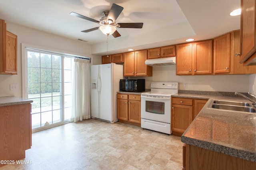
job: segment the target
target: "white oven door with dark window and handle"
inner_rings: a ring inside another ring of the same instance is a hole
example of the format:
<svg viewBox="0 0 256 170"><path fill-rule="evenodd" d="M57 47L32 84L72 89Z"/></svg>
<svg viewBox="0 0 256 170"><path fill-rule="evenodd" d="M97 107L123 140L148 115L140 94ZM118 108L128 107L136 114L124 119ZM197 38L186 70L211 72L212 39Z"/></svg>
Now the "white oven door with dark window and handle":
<svg viewBox="0 0 256 170"><path fill-rule="evenodd" d="M142 95L141 118L171 123L171 97Z"/></svg>

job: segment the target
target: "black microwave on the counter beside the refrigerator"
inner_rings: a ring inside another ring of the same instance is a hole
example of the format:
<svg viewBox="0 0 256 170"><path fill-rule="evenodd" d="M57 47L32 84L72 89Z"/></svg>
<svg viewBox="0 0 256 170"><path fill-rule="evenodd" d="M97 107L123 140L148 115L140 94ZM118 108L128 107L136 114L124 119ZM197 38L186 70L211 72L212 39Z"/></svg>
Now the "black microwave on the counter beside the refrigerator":
<svg viewBox="0 0 256 170"><path fill-rule="evenodd" d="M120 79L119 88L122 92L143 92L145 79Z"/></svg>

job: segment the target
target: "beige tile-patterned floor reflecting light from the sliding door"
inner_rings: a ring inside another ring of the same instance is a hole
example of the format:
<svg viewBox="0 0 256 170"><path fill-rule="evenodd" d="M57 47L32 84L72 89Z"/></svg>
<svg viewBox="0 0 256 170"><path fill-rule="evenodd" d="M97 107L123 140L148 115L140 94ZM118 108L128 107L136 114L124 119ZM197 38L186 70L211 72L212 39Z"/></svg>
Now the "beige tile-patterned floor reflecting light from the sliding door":
<svg viewBox="0 0 256 170"><path fill-rule="evenodd" d="M180 137L88 119L32 134L24 162L0 170L181 170Z"/></svg>

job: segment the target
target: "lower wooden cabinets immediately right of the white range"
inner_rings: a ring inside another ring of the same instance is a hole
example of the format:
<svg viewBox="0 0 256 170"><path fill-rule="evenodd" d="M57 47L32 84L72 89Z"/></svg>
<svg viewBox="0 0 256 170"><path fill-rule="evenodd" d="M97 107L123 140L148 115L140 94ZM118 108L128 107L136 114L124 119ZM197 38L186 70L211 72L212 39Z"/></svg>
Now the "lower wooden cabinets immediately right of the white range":
<svg viewBox="0 0 256 170"><path fill-rule="evenodd" d="M172 97L172 134L181 136L207 100Z"/></svg>

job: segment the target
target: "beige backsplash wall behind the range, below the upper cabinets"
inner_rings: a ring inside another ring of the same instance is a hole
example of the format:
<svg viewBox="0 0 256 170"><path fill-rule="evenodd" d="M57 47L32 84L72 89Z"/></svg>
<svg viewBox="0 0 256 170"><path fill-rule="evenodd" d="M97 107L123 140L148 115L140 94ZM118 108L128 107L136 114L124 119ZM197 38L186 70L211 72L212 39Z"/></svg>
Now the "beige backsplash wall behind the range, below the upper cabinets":
<svg viewBox="0 0 256 170"><path fill-rule="evenodd" d="M254 75L252 77L255 77L256 74L252 75ZM146 88L150 88L151 82L179 82L180 90L249 92L249 76L250 75L246 74L176 76L176 65L172 65L153 67L153 76L144 78L146 79ZM256 81L255 79L256 78L254 78L254 81ZM184 88L183 83L187 83L188 88Z"/></svg>

